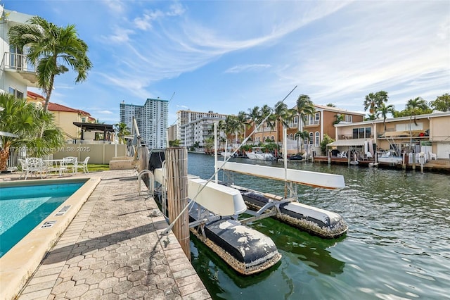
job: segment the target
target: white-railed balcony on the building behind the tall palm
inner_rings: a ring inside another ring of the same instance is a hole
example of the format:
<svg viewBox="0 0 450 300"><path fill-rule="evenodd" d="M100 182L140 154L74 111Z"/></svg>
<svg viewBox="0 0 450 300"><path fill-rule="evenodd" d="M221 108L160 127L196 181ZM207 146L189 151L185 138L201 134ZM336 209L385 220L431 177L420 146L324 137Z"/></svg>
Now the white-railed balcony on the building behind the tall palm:
<svg viewBox="0 0 450 300"><path fill-rule="evenodd" d="M25 81L28 87L37 87L36 70L25 54L5 52L0 68L15 80Z"/></svg>

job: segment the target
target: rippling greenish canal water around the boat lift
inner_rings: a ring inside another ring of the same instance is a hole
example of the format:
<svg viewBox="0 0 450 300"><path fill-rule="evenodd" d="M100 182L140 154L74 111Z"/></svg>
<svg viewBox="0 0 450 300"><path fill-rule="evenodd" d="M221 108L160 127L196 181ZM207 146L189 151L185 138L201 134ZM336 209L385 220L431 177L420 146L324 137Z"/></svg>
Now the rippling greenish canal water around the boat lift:
<svg viewBox="0 0 450 300"><path fill-rule="evenodd" d="M283 168L283 162L232 161ZM208 179L213 165L213 156L188 154L189 174ZM342 215L349 232L328 240L270 218L252 223L283 258L251 276L239 275L191 236L193 266L213 299L450 299L449 175L304 162L288 168L344 176L343 189L299 185L298 194L304 204ZM233 179L283 195L284 182Z"/></svg>

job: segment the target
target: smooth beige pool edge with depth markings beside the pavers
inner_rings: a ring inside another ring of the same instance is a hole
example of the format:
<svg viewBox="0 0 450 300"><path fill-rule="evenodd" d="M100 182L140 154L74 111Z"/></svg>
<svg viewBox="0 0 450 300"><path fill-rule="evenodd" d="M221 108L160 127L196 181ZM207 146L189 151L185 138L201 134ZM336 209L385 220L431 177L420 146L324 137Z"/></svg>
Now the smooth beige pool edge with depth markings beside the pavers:
<svg viewBox="0 0 450 300"><path fill-rule="evenodd" d="M60 235L101 182L100 176L77 177L77 180L82 178L86 179L82 187L0 258L0 299L15 299L47 251L58 241ZM58 180L58 182L61 181ZM55 215L61 208L68 205L70 208L63 215ZM51 227L40 228L43 223L49 221L56 221L56 223Z"/></svg>

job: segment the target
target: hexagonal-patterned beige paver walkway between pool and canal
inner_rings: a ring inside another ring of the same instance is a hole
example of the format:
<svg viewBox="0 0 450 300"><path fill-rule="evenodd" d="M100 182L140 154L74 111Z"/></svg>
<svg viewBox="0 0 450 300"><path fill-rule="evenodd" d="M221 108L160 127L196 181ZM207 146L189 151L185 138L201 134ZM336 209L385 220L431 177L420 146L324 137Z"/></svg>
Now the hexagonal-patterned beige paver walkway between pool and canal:
<svg viewBox="0 0 450 300"><path fill-rule="evenodd" d="M101 182L17 299L211 299L174 234L161 235L167 223L138 194L137 173L95 174Z"/></svg>

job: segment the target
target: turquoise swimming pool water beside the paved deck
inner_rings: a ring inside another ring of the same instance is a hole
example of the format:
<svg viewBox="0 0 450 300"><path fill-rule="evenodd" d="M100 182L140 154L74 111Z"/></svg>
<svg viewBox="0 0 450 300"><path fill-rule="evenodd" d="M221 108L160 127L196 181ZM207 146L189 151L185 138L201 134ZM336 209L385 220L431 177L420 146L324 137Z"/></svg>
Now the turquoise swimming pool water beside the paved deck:
<svg viewBox="0 0 450 300"><path fill-rule="evenodd" d="M0 189L0 257L49 216L84 182Z"/></svg>

